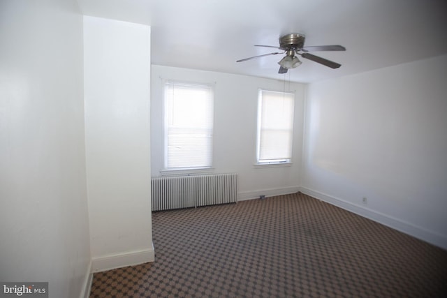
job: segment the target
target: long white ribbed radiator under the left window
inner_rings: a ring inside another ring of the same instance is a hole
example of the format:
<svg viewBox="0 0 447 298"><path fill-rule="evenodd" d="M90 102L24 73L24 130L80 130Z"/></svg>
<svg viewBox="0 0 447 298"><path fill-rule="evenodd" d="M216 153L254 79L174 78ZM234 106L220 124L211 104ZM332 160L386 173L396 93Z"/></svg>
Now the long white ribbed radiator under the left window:
<svg viewBox="0 0 447 298"><path fill-rule="evenodd" d="M237 202L237 174L152 177L152 211Z"/></svg>

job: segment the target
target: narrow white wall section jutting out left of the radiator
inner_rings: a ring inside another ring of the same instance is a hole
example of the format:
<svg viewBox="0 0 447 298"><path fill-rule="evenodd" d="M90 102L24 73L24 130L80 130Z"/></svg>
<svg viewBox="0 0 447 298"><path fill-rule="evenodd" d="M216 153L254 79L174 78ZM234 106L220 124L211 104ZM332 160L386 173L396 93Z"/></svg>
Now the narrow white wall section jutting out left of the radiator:
<svg viewBox="0 0 447 298"><path fill-rule="evenodd" d="M93 270L149 262L150 27L85 16L84 50Z"/></svg>

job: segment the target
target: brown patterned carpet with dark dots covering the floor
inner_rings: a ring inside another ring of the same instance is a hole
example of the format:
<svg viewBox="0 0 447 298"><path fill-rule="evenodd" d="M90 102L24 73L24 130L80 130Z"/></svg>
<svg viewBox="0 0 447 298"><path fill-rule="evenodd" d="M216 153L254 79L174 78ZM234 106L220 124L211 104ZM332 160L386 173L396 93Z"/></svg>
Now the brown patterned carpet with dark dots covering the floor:
<svg viewBox="0 0 447 298"><path fill-rule="evenodd" d="M90 297L447 297L447 251L302 193L152 213L155 262Z"/></svg>

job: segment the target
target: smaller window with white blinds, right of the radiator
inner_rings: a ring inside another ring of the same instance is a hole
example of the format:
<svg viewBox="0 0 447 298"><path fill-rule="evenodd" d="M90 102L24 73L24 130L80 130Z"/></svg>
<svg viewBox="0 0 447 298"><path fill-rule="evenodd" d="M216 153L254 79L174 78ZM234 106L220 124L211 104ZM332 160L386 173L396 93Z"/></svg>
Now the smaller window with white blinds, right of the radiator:
<svg viewBox="0 0 447 298"><path fill-rule="evenodd" d="M259 90L257 163L291 162L294 103L293 93Z"/></svg>

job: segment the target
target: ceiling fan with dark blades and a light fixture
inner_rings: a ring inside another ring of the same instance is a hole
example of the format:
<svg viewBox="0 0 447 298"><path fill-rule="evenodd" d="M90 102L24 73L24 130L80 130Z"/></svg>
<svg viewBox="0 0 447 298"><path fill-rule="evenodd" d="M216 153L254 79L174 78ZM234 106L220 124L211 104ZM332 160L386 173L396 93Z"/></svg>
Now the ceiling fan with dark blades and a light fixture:
<svg viewBox="0 0 447 298"><path fill-rule="evenodd" d="M286 54L286 56L278 62L279 71L278 73L287 73L287 70L295 68L301 64L300 59L295 56L295 54L300 55L302 58L312 60L316 63L323 64L330 68L339 68L342 64L324 59L309 52L318 51L346 51L346 48L342 45L314 45L310 47L305 47L305 36L299 33L291 33L281 36L279 38L279 47L274 45L255 45L255 47L274 47L284 52L272 52L268 54L262 54L254 57L249 57L245 59L237 60L236 62L247 61L250 59L255 59L259 57L265 57L276 54Z"/></svg>

